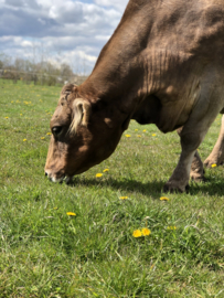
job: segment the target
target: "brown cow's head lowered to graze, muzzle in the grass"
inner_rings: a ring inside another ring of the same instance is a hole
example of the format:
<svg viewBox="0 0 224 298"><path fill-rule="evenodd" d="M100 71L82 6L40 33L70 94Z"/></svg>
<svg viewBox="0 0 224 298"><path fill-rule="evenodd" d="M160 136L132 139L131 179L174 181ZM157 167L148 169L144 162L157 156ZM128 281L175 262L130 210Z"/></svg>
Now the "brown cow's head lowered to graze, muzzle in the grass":
<svg viewBox="0 0 224 298"><path fill-rule="evenodd" d="M45 174L60 182L102 162L114 152L129 120L116 105L84 98L76 86L66 85L51 119Z"/></svg>

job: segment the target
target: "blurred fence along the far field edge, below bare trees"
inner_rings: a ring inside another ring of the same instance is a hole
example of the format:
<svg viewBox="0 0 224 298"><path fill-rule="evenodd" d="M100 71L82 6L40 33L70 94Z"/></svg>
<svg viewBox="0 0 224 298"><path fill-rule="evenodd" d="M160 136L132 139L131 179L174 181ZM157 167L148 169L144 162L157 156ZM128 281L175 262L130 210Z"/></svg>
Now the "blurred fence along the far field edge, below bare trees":
<svg viewBox="0 0 224 298"><path fill-rule="evenodd" d="M81 85L87 76L68 74L58 75L45 72L24 72L17 70L0 70L0 78L11 79L14 84L22 81L25 84L63 86L67 83Z"/></svg>

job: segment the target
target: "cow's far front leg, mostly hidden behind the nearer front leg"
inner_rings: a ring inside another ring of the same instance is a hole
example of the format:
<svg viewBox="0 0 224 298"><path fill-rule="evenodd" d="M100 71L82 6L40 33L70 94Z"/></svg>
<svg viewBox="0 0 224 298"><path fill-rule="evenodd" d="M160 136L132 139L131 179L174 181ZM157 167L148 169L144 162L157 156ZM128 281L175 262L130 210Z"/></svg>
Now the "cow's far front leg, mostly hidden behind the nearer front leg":
<svg viewBox="0 0 224 298"><path fill-rule="evenodd" d="M180 136L183 127L177 129L178 135ZM200 158L199 151L196 150L193 157L193 161L191 163L191 172L190 178L195 182L202 182L205 180L204 178L204 167L203 162Z"/></svg>

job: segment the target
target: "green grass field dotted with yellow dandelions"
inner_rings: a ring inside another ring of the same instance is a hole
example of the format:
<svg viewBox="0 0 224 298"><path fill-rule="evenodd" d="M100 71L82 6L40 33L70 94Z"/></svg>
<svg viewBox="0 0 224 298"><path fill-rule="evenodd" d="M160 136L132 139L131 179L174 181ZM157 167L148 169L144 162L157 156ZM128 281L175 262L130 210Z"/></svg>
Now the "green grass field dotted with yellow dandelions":
<svg viewBox="0 0 224 298"><path fill-rule="evenodd" d="M131 121L108 160L53 184L44 164L58 95L0 81L0 297L224 297L223 167L160 201L179 137ZM150 235L132 236L145 227Z"/></svg>

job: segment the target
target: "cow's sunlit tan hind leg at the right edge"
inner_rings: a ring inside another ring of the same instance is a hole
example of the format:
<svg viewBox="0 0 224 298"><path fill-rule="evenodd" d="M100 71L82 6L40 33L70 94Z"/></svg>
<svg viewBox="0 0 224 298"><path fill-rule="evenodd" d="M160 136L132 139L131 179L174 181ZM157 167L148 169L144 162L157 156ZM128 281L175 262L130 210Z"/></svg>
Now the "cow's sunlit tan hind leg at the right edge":
<svg viewBox="0 0 224 298"><path fill-rule="evenodd" d="M204 161L204 164L207 168L211 168L212 164L222 164L224 162L224 115L222 117L221 131L218 139L215 143L210 156Z"/></svg>

